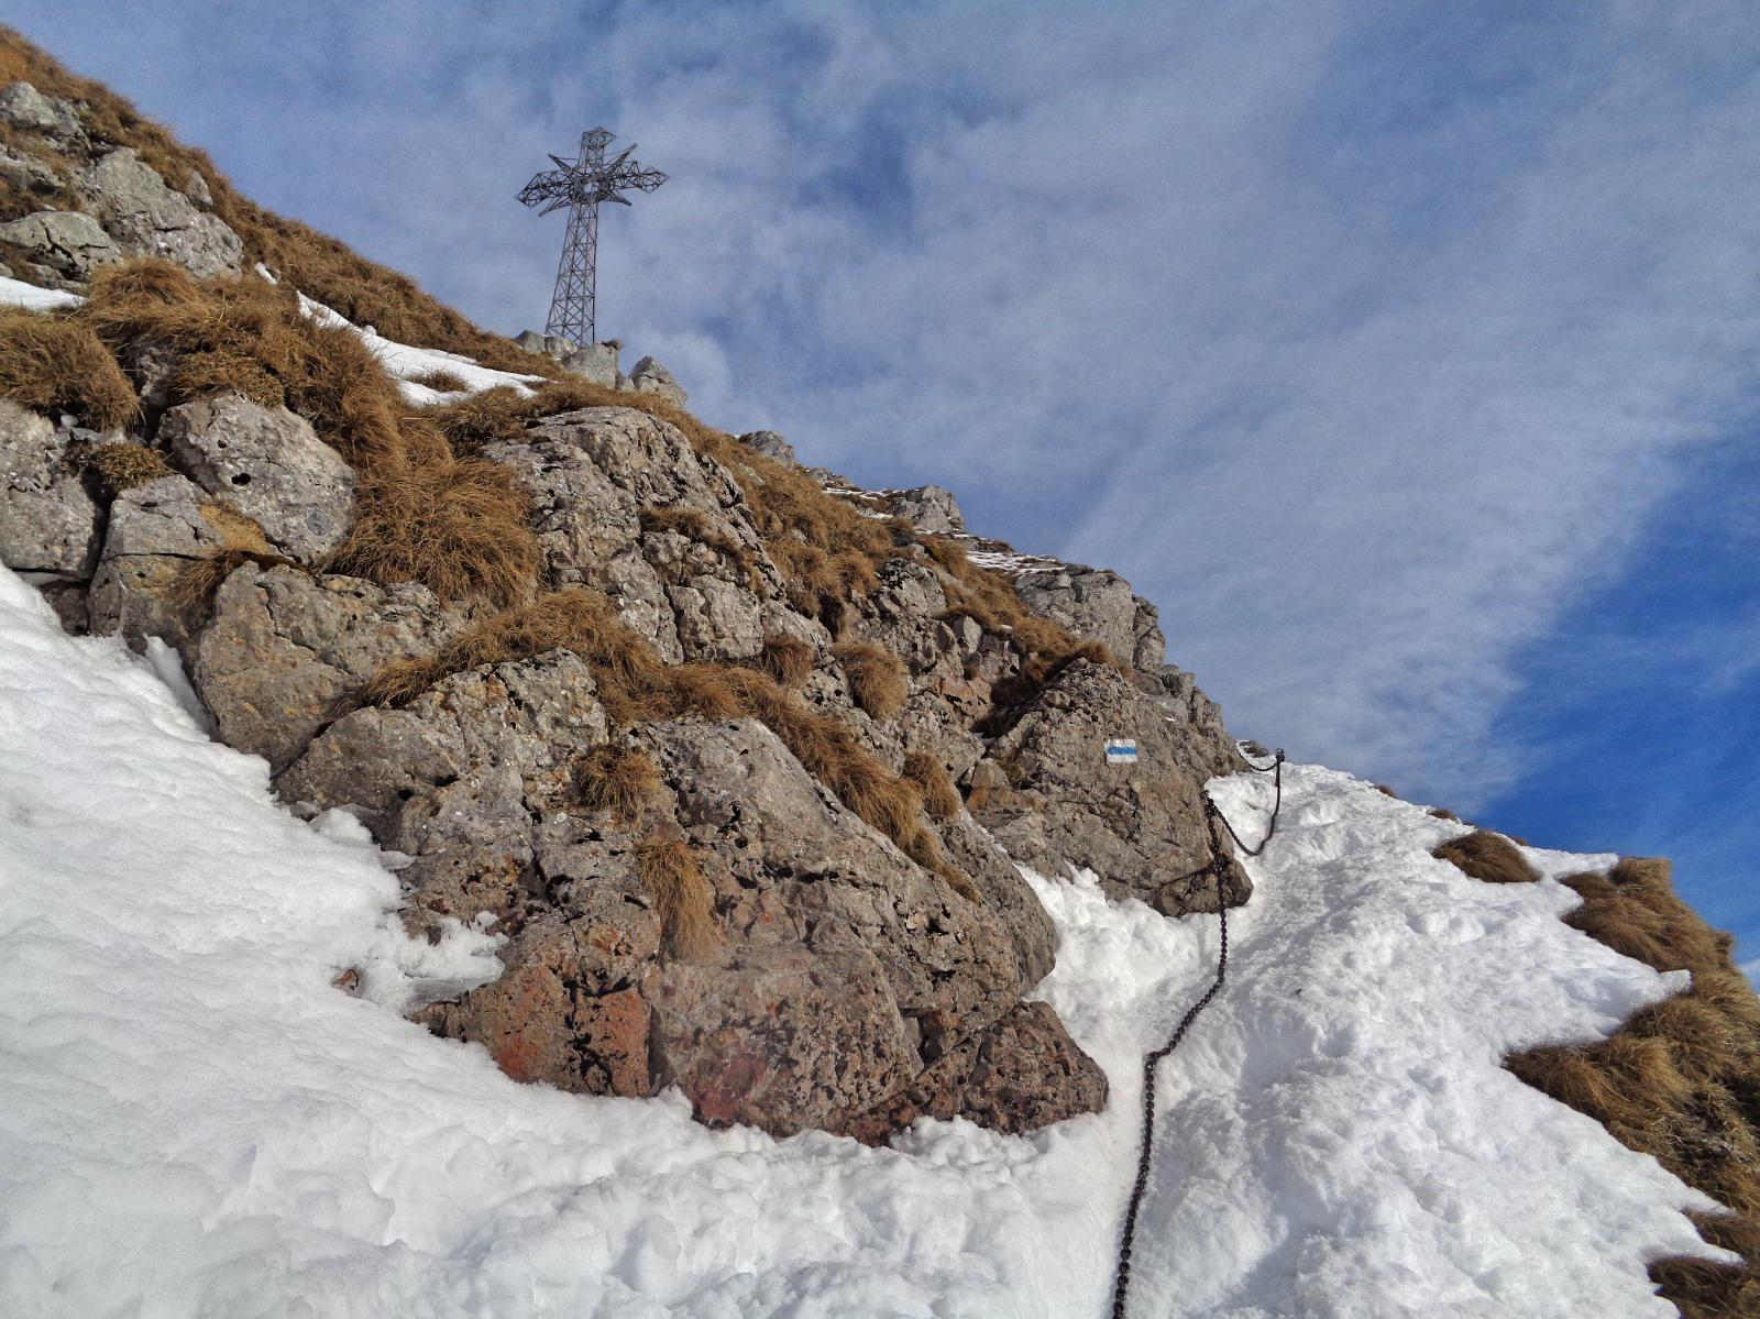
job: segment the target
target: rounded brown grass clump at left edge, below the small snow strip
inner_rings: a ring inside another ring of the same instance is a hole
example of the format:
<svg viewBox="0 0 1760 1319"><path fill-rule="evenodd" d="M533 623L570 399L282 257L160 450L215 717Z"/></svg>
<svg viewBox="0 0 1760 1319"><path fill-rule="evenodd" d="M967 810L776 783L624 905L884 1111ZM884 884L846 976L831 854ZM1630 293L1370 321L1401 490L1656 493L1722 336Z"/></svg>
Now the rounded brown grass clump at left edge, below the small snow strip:
<svg viewBox="0 0 1760 1319"><path fill-rule="evenodd" d="M92 329L63 315L0 308L0 398L46 414L70 412L95 430L141 410L134 386Z"/></svg>

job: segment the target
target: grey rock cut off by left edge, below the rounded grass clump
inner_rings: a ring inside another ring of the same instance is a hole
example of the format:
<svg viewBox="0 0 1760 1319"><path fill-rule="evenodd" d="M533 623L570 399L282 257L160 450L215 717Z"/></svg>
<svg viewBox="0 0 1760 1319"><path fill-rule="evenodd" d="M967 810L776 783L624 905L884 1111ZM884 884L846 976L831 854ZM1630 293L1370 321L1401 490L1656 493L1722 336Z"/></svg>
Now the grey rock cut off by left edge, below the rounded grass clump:
<svg viewBox="0 0 1760 1319"><path fill-rule="evenodd" d="M99 507L67 437L48 417L0 400L0 562L83 581L97 558Z"/></svg>

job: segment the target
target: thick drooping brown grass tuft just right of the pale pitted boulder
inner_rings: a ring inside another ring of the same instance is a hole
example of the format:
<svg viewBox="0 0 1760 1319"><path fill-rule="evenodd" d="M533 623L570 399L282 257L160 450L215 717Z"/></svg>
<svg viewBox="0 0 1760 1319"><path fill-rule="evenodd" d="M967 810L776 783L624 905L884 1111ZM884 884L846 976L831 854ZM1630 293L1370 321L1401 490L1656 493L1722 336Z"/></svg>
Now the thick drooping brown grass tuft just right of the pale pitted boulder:
<svg viewBox="0 0 1760 1319"><path fill-rule="evenodd" d="M356 519L329 564L382 585L419 581L447 601L510 604L537 574L537 537L512 475L475 458L391 461L356 490Z"/></svg>

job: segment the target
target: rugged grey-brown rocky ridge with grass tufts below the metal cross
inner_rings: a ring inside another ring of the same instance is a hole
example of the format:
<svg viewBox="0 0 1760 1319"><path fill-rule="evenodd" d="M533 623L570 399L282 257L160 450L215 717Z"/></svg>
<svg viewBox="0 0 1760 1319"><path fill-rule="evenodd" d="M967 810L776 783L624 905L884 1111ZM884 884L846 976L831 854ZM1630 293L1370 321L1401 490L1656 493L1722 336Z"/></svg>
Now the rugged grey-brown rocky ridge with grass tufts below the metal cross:
<svg viewBox="0 0 1760 1319"><path fill-rule="evenodd" d="M55 174L88 210L53 215L77 220L0 234L18 273L95 303L125 257L238 276L201 188L95 139L81 106L14 83L0 114L95 160ZM70 227L72 248L28 247ZM361 500L415 458L303 416L278 359L268 394L262 370L167 393L187 343L128 328L114 352L157 398L123 426L0 402L0 558L70 630L176 648L292 808L348 808L410 858L412 928L505 937L505 974L422 1006L429 1028L519 1080L678 1085L704 1122L773 1132L1021 1131L1104 1102L1024 1000L1054 947L1014 863L1213 907L1199 789L1237 768L1128 583L979 541L933 486L866 491L774 433L716 437L651 359L618 391L614 354L595 403L408 423L458 449L433 470L517 497L516 599L341 572L364 562ZM1112 736L1139 766L1105 764ZM1232 872L1221 898L1246 893Z"/></svg>

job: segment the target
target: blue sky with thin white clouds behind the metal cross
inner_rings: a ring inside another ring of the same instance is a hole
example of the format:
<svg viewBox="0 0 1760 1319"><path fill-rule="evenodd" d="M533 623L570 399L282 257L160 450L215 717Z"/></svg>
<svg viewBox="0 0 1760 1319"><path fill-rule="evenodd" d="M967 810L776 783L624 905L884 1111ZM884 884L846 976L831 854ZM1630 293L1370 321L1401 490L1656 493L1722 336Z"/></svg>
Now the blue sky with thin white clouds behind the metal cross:
<svg viewBox="0 0 1760 1319"><path fill-rule="evenodd" d="M1230 727L1668 854L1760 956L1748 4L197 5L0 18L257 201L704 419L1125 572ZM616 148L614 148L616 150Z"/></svg>

